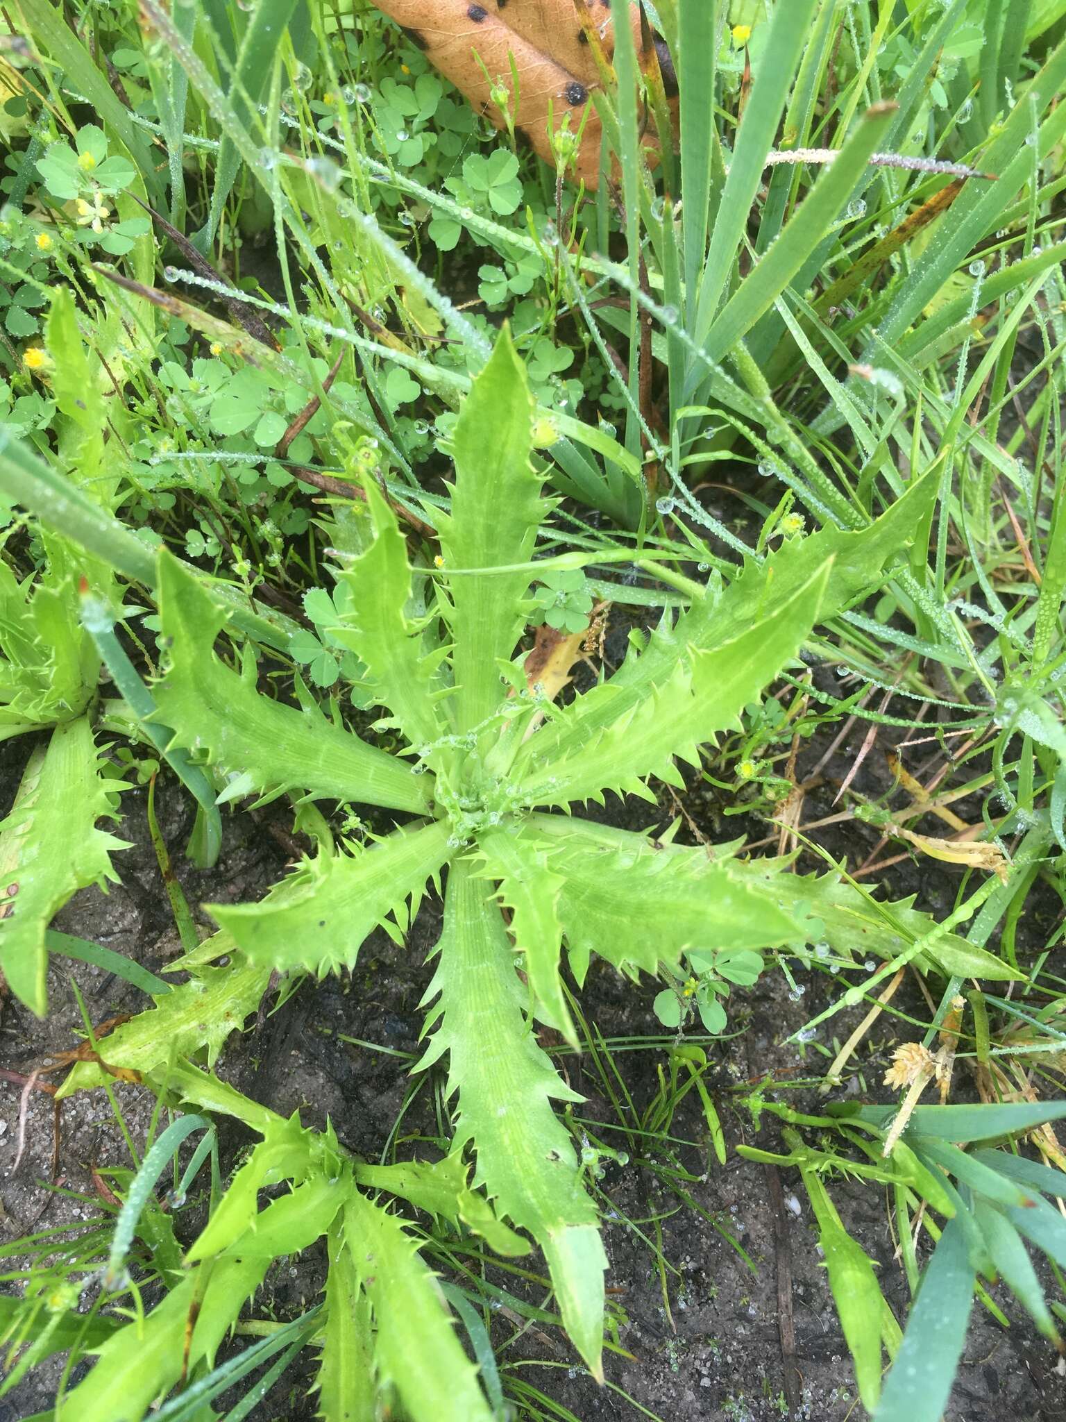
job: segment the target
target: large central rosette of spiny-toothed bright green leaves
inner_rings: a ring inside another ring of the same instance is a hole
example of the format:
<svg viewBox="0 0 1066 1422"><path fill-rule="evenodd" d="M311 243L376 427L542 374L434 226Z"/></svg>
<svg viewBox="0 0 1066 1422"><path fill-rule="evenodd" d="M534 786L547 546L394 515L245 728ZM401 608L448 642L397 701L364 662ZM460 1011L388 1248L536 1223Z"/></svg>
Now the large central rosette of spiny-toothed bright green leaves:
<svg viewBox="0 0 1066 1422"><path fill-rule="evenodd" d="M414 818L365 845L323 843L262 903L213 906L219 951L233 953L232 966L200 968L139 1025L121 1027L108 1061L159 1068L172 1015L188 1051L188 1012L198 1003L203 1022L206 993L237 1025L271 970L351 968L374 927L401 937L448 866L422 1065L448 1055L456 1142L472 1149L476 1180L500 1216L544 1251L564 1324L598 1375L605 1258L551 1105L573 1096L533 1031L542 1021L577 1039L559 975L563 947L580 981L591 953L635 975L675 964L691 947L802 944L826 933L817 899L827 880L746 865L735 846L708 855L546 811L569 812L608 789L652 799L651 775L678 784L674 759L698 764L699 747L797 656L814 623L878 582L927 491L915 486L863 532L827 529L752 560L731 586L664 619L647 646L638 640L614 677L559 710L526 690L515 657L539 566L536 532L550 512L530 464L533 412L505 333L455 428L455 489L428 616L411 613L404 540L367 482L372 539L338 572L352 596L335 633L367 668L361 691L407 739L401 755L365 744L300 687L300 707L260 694L249 651L237 671L213 650L223 609L161 556L169 665L155 700L175 744L244 792L303 789ZM547 717L539 728L536 712ZM930 957L938 961L932 948ZM967 961L967 971L996 970L991 958ZM205 1028L203 1037L217 1048L217 1034ZM74 1084L88 1084L92 1071L80 1068Z"/></svg>

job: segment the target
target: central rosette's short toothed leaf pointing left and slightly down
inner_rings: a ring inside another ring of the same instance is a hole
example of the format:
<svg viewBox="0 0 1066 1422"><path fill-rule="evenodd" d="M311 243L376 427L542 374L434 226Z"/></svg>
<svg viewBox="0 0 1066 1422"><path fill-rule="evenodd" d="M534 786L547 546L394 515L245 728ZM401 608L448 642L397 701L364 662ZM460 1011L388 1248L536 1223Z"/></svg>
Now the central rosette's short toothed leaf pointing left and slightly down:
<svg viewBox="0 0 1066 1422"><path fill-rule="evenodd" d="M377 927L399 939L409 921L407 903L414 899L416 909L426 880L451 853L448 840L442 822L395 829L367 849L320 853L297 872L284 902L208 907L253 963L321 977L351 968Z"/></svg>

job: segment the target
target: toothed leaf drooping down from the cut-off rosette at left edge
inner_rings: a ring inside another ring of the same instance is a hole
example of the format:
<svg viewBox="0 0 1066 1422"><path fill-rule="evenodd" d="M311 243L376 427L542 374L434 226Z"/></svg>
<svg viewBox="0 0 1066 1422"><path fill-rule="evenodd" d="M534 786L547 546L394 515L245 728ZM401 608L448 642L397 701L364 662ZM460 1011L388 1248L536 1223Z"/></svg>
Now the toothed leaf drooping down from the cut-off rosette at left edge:
<svg viewBox="0 0 1066 1422"><path fill-rule="evenodd" d="M118 876L111 853L128 846L97 820L115 818L87 717L57 725L30 757L11 813L0 823L0 968L14 995L38 1017L48 1005L44 933L78 889Z"/></svg>

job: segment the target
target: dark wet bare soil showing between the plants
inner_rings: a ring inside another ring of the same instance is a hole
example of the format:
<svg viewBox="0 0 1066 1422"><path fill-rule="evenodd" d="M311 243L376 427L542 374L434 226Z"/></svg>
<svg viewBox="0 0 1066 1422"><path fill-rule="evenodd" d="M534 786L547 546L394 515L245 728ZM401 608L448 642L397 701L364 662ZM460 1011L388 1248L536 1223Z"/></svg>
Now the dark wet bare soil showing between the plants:
<svg viewBox="0 0 1066 1422"><path fill-rule="evenodd" d="M840 747L827 766L830 776L834 769L844 774L863 734L864 728L857 728L854 741ZM804 761L809 768L823 749L817 742L806 748L800 775ZM0 747L0 798L4 803L14 793L27 752L28 745L18 742ZM868 757L856 784L876 793L887 788L887 774L878 752ZM830 813L833 793L833 784L812 792L804 820ZM711 839L733 838L742 830L759 838L765 832L758 823L741 825L738 820L716 826L714 806L702 798L701 789L687 795L684 803L695 826L705 829ZM284 872L287 853L269 825L270 815L280 815L280 811L267 809L257 818L249 813L229 818L223 859L210 873L200 873L181 856L190 828L188 805L175 788L168 788L161 789L158 808L175 867L192 903L256 897ZM57 927L158 968L178 951L178 940L146 832L145 792L129 791L124 809L126 819L119 833L132 842L132 849L121 856L122 884L107 896L97 890L78 894L57 920ZM674 806L664 801L664 820L674 813ZM608 815L617 823L634 826L644 826L651 818L650 806L642 803L620 806L615 802ZM817 838L830 852L847 853L853 865L877 843L877 832L858 822ZM893 897L918 893L921 907L942 914L954 903L958 872L925 863L932 866L931 872L911 860L894 866L887 889ZM816 865L804 860L803 867ZM1053 906L1033 900L1029 924L1039 941L1046 939L1048 929L1036 920L1045 914L1050 919L1053 913ZM219 1065L220 1075L277 1111L289 1113L300 1108L306 1125L321 1126L328 1118L344 1145L367 1158L379 1156L409 1089L407 1059L345 1042L338 1034L399 1052L416 1049L418 1003L431 977L425 958L438 929L438 910L429 904L405 947L375 934L350 978L303 984L277 1012L266 1017L257 1032L232 1039ZM18 1004L4 1004L0 1065L28 1072L48 1052L75 1045L80 1012L71 978L81 988L94 1021L146 1005L138 990L119 980L84 964L54 960L51 1015L45 1022L37 1022ZM687 1101L674 1121L672 1135L692 1142L681 1148L681 1159L701 1177L688 1189L702 1216L691 1209L678 1210L679 1202L647 1167L611 1165L604 1175L611 1266L607 1283L621 1320L620 1342L628 1354L608 1355L605 1371L611 1386L597 1386L574 1364L559 1334L527 1334L502 1354L505 1368L512 1367L516 1376L569 1408L581 1422L615 1418L628 1422L641 1415L664 1422L779 1422L783 1418L844 1422L866 1415L856 1398L847 1349L819 1260L816 1229L797 1173L746 1162L732 1150L739 1142L780 1148L773 1118L763 1116L755 1133L750 1116L736 1109L738 1088L766 1072L803 1078L817 1075L827 1065L816 1044L806 1048L782 1045L790 1032L833 1000L833 980L826 975L809 973L797 978L797 985L804 988L799 998L780 973L769 971L755 988L735 993L732 1027L741 1032L711 1048L715 1066L708 1081L715 1088L731 1146L726 1165L714 1162L696 1101ZM605 1038L661 1035L651 1010L654 991L651 983L632 988L605 964L598 964L588 974L583 1005L588 1021ZM917 990L907 1005L927 1014ZM857 1015L841 1014L817 1042L831 1051L833 1035L843 1041L856 1021ZM853 1076L844 1089L877 1095L877 1084L897 1039L893 1021L883 1018L856 1058L861 1079ZM617 1054L618 1069L638 1106L654 1095L657 1068L664 1061L665 1052L659 1048ZM617 1118L590 1062L569 1058L567 1069L573 1085L587 1096L581 1113L588 1121L605 1123L600 1135L611 1139L605 1126ZM68 1190L82 1192L88 1199L55 1194L44 1183L51 1176L53 1103L43 1094L33 1094L26 1159L13 1176L20 1088L0 1084L0 1094L6 1128L0 1133L0 1231L10 1247L33 1229L72 1223L92 1213L91 1167L124 1165L128 1156L104 1094L74 1098L63 1109L58 1175ZM118 1086L117 1095L134 1138L144 1139L151 1096L136 1086ZM819 1098L797 1092L789 1101L809 1109ZM404 1130L435 1135L429 1091L421 1092L409 1108ZM246 1136L239 1129L223 1129L223 1140L225 1163L230 1163ZM873 1186L836 1180L831 1194L849 1231L878 1261L887 1298L903 1318L907 1284L894 1257L884 1193ZM662 1254L671 1266L667 1274L669 1314L654 1254L625 1223L627 1219L644 1221L641 1227L650 1234L654 1226L648 1221L655 1214L662 1216ZM743 1247L752 1267L729 1241L729 1234ZM257 1298L257 1313L294 1317L316 1301L323 1273L324 1260L314 1249L298 1263L276 1266ZM1003 1330L979 1307L975 1310L948 1422L1002 1422L1006 1418L1066 1422L1066 1384L1055 1352L1035 1337L1003 1290L995 1290L994 1297L1011 1318L1011 1328ZM513 1331L502 1327L497 1341L505 1342ZM58 1365L38 1368L0 1402L0 1422L14 1422L48 1406L57 1378ZM313 1418L316 1401L307 1395L310 1379L308 1359L303 1374L287 1374L259 1405L257 1422ZM647 1411L641 1413L624 1394Z"/></svg>

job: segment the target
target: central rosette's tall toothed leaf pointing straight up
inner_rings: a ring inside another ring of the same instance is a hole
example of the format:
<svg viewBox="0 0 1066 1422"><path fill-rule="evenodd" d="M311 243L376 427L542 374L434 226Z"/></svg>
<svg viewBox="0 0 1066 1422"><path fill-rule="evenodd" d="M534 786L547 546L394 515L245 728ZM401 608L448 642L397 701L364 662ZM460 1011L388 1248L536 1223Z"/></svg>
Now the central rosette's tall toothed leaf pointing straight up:
<svg viewBox="0 0 1066 1422"><path fill-rule="evenodd" d="M497 663L510 660L522 633L520 602L530 574L492 569L529 562L550 506L540 498L532 449L533 398L505 330L463 401L452 439L452 512L438 516L445 576L456 570L445 616L455 638L459 731L480 725L503 702Z"/></svg>

